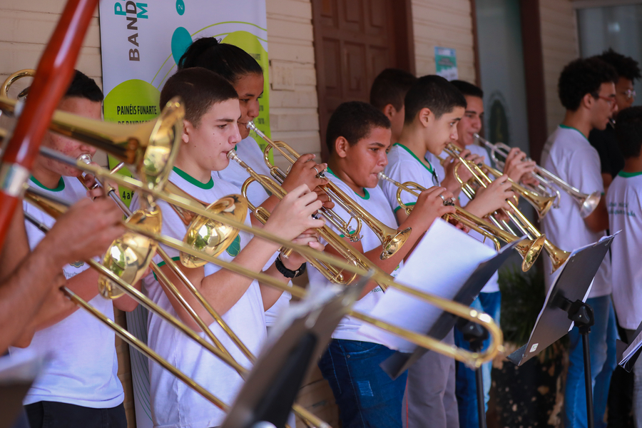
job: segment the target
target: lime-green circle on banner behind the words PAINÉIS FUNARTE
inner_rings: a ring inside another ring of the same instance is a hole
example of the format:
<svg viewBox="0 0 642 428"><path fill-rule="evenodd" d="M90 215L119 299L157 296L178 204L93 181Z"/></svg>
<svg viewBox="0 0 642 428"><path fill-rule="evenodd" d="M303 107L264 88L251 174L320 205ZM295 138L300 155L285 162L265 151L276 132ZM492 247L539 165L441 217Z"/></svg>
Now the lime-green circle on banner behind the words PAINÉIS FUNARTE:
<svg viewBox="0 0 642 428"><path fill-rule="evenodd" d="M117 123L151 121L161 114L161 91L138 79L124 81L105 97L105 120Z"/></svg>

